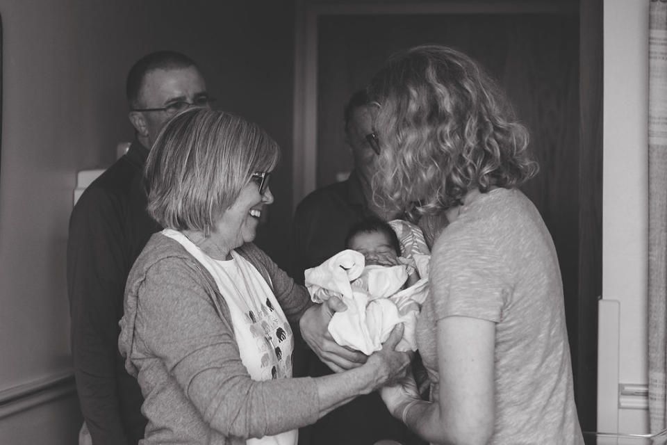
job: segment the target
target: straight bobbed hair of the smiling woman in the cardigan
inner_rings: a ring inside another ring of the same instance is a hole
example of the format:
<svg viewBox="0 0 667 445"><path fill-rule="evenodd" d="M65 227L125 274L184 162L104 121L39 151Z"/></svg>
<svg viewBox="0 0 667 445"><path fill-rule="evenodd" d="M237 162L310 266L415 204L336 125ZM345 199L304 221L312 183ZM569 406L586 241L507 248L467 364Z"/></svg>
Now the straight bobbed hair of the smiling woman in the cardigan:
<svg viewBox="0 0 667 445"><path fill-rule="evenodd" d="M149 214L165 228L210 233L254 172L273 170L278 144L257 124L189 108L165 124L144 170Z"/></svg>

